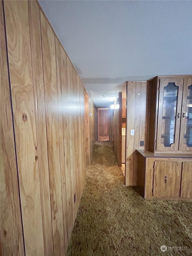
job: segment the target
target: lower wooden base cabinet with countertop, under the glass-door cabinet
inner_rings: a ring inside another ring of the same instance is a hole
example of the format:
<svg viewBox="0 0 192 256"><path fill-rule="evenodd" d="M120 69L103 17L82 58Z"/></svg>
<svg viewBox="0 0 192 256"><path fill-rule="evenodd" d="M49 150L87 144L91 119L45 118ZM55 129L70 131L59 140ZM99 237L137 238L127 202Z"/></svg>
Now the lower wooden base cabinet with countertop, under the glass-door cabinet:
<svg viewBox="0 0 192 256"><path fill-rule="evenodd" d="M138 186L145 199L192 199L192 155L137 152Z"/></svg>

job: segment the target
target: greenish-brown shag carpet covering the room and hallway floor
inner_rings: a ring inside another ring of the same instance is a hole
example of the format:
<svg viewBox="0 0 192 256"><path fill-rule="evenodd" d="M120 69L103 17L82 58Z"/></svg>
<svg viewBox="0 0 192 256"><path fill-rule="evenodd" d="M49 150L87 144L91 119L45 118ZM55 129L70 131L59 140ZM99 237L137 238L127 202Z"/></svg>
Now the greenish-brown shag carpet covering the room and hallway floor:
<svg viewBox="0 0 192 256"><path fill-rule="evenodd" d="M126 187L109 142L96 143L86 178L67 256L192 255L192 202L144 200Z"/></svg>

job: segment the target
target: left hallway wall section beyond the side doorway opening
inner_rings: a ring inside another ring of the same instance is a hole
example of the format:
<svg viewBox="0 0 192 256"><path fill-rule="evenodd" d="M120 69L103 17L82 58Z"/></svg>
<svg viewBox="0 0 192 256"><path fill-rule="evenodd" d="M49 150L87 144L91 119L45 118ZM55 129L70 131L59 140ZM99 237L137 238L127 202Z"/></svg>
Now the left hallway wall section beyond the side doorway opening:
<svg viewBox="0 0 192 256"><path fill-rule="evenodd" d="M97 140L97 108L84 89L85 97L85 158L86 166L91 164L95 141ZM90 116L91 113L91 116Z"/></svg>

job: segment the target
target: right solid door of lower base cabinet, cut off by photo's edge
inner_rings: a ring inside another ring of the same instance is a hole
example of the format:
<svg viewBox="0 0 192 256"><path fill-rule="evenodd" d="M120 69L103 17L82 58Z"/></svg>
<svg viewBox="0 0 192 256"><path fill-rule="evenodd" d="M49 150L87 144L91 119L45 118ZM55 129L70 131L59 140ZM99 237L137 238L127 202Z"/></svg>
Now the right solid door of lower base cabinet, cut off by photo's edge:
<svg viewBox="0 0 192 256"><path fill-rule="evenodd" d="M192 198L192 162L183 162L181 197Z"/></svg>

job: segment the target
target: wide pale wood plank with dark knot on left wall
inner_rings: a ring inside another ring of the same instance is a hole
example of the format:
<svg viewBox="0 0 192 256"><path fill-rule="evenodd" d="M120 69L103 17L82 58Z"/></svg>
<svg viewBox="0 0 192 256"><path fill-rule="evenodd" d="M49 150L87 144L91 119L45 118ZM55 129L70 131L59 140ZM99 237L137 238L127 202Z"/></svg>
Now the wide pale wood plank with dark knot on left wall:
<svg viewBox="0 0 192 256"><path fill-rule="evenodd" d="M28 2L4 6L25 250L44 255Z"/></svg>

